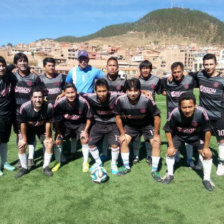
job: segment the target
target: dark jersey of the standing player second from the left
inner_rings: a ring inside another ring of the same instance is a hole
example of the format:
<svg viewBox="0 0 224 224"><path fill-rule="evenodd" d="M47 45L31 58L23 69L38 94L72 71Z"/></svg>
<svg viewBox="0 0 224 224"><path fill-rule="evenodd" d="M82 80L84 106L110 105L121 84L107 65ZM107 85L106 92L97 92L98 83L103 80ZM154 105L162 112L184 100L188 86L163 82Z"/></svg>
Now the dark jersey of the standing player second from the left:
<svg viewBox="0 0 224 224"><path fill-rule="evenodd" d="M30 73L22 77L19 71L12 74L12 84L15 97L16 113L19 114L20 106L30 100L32 87L41 85L41 80L36 74Z"/></svg>

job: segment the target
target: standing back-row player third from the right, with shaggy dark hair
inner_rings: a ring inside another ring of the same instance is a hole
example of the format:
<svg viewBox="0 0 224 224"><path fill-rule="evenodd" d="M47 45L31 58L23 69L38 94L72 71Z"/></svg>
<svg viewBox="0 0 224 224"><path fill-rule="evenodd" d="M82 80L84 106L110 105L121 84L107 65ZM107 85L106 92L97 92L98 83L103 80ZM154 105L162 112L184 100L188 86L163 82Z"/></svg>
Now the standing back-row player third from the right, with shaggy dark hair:
<svg viewBox="0 0 224 224"><path fill-rule="evenodd" d="M157 76L151 74L152 63L148 60L141 62L139 65L140 77L139 81L141 83L141 92L145 95L153 97L155 101L155 93L160 93L160 79ZM136 139L133 142L134 147L134 160L133 164L139 162L139 148L140 139ZM146 152L147 152L147 163L152 165L151 151L152 147L149 142L145 142Z"/></svg>

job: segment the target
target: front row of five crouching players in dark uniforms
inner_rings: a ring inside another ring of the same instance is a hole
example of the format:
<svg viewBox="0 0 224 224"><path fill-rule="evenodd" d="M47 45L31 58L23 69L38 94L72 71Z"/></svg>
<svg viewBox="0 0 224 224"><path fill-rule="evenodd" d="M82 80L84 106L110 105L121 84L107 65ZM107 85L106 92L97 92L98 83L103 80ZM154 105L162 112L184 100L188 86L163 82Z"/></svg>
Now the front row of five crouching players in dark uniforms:
<svg viewBox="0 0 224 224"><path fill-rule="evenodd" d="M97 143L107 134L111 146L112 173L126 174L130 172L128 145L133 138L143 135L145 141L149 141L152 145L151 173L156 181L163 183L172 181L174 156L181 144L186 142L199 150L204 168L203 184L206 189L213 190L214 185L210 180L212 154L209 149L211 136L209 119L206 111L196 106L194 95L191 93L181 95L179 107L173 110L164 127L169 144L166 157L168 172L164 178L160 178L157 172L161 143L160 110L153 100L141 94L138 79L127 80L125 89L126 94L110 93L107 81L99 79L95 84L95 93L81 96L72 83L67 83L65 96L58 100L53 108L51 104L44 102L43 90L40 87L34 88L31 101L20 108L21 128L18 148L22 169L16 177L21 177L28 172L25 148L33 141L36 134L45 147L43 171L48 176L52 175L49 163L53 148L51 123L54 118L55 158L58 163L53 171L60 167L62 140L69 138L81 140L83 172L89 170L89 152L96 162L91 168L102 166ZM124 164L122 170L117 167L119 151Z"/></svg>

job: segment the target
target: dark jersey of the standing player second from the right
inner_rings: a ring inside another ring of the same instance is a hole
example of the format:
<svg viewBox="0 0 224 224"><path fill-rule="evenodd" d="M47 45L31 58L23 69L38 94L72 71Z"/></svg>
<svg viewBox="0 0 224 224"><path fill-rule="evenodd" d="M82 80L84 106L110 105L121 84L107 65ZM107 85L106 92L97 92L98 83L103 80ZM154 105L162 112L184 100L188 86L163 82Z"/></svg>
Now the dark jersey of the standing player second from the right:
<svg viewBox="0 0 224 224"><path fill-rule="evenodd" d="M162 79L161 91L166 91L167 117L178 106L180 95L186 92L193 92L194 87L194 79L189 75L183 76L180 82L170 82L168 79Z"/></svg>

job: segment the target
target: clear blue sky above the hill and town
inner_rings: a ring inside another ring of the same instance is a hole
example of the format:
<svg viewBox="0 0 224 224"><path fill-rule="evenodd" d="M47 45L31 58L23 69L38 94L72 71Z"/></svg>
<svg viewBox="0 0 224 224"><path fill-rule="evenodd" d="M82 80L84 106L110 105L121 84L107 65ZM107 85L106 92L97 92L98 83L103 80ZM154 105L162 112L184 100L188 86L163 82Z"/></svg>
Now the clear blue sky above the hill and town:
<svg viewBox="0 0 224 224"><path fill-rule="evenodd" d="M201 10L224 22L223 0L1 0L0 4L0 45L88 35L171 6Z"/></svg>

